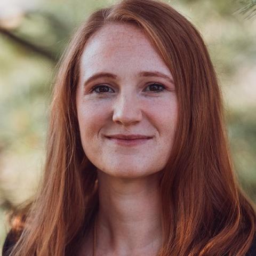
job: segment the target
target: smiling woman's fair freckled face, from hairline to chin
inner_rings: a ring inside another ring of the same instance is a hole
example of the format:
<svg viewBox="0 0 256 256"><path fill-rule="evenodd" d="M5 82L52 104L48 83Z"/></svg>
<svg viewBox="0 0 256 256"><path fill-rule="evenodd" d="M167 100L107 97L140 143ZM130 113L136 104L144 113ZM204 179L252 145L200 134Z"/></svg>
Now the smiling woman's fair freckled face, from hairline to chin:
<svg viewBox="0 0 256 256"><path fill-rule="evenodd" d="M76 105L89 160L119 178L161 171L178 105L172 74L148 38L133 25L105 25L87 42L80 71Z"/></svg>

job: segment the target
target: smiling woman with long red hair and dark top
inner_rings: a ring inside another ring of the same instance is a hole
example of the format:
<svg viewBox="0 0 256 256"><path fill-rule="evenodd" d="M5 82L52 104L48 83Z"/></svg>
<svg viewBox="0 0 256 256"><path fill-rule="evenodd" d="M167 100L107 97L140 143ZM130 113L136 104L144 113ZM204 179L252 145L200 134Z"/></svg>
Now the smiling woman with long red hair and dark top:
<svg viewBox="0 0 256 256"><path fill-rule="evenodd" d="M4 255L249 256L255 220L198 31L153 0L94 12L61 61L41 190Z"/></svg>

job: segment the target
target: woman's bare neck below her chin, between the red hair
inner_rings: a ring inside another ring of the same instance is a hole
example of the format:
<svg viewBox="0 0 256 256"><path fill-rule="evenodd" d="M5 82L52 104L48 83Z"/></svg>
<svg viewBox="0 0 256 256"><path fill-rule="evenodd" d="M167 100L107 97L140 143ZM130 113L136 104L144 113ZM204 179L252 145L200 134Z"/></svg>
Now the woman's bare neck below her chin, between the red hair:
<svg viewBox="0 0 256 256"><path fill-rule="evenodd" d="M98 171L97 250L156 255L162 246L159 173L121 179Z"/></svg>

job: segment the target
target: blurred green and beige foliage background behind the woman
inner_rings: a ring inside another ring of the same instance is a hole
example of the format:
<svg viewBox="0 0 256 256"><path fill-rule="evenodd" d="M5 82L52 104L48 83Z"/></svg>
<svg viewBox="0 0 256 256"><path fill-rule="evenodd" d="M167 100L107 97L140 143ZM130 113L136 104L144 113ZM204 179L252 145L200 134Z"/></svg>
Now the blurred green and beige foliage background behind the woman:
<svg viewBox="0 0 256 256"><path fill-rule="evenodd" d="M163 0L164 1L164 0ZM57 64L74 29L110 0L0 2L0 250L6 213L34 195ZM235 171L256 202L256 1L171 0L202 34L219 77Z"/></svg>

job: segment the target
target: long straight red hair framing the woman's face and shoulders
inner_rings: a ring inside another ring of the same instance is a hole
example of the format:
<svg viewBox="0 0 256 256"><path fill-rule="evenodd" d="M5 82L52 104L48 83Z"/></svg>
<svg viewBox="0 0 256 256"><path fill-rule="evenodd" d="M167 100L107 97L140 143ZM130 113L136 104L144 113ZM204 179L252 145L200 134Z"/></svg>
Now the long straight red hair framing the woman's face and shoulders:
<svg viewBox="0 0 256 256"><path fill-rule="evenodd" d="M176 135L159 185L159 255L243 256L256 215L233 172L217 76L195 27L154 0L123 0L95 11L73 37L55 82L44 178L11 256L75 255L91 228L98 210L97 172L81 145L75 96L86 42L108 22L139 27L170 68L177 89Z"/></svg>

